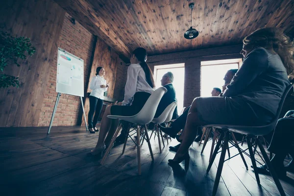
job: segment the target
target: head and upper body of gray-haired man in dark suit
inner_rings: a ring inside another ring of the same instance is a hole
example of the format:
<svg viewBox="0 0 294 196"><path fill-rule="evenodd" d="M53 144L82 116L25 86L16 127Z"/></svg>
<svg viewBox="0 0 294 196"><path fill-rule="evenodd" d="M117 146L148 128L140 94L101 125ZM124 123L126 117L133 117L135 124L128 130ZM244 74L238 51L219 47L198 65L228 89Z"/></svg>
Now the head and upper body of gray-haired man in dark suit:
<svg viewBox="0 0 294 196"><path fill-rule="evenodd" d="M157 107L154 118L157 118L161 115L161 113L170 105L173 101L177 101L175 98L175 90L173 88L173 74L172 72L165 73L161 78L161 86L164 86L168 91L161 98L159 105ZM177 107L175 108L172 119L176 119L178 117Z"/></svg>

